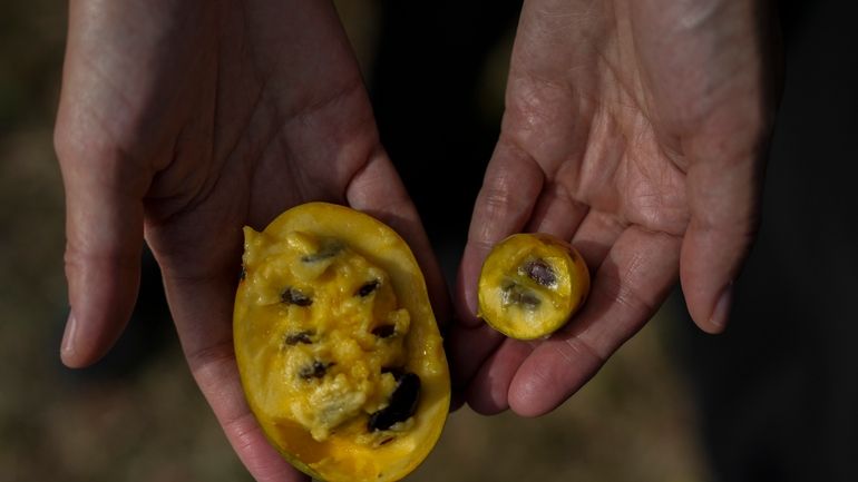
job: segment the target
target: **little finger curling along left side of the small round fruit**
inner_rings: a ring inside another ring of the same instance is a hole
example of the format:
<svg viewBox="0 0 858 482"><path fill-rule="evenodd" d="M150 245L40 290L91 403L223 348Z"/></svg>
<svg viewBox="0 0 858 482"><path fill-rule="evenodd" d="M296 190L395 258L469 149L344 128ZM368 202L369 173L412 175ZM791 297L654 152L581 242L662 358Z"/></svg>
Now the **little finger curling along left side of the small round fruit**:
<svg viewBox="0 0 858 482"><path fill-rule="evenodd" d="M530 218L543 188L544 174L524 150L501 136L486 169L482 188L474 206L456 288L457 317L468 326L477 317L477 282L491 247L518 233Z"/></svg>

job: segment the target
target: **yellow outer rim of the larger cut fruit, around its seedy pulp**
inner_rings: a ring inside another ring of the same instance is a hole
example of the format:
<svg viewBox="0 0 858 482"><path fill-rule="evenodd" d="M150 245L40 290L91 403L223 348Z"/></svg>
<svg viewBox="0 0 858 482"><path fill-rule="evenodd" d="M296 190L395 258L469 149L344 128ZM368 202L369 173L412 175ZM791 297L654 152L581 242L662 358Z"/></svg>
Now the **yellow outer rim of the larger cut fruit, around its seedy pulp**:
<svg viewBox="0 0 858 482"><path fill-rule="evenodd" d="M259 323L254 305L259 294L250 284L256 279L254 272L265 267L265 260L254 258L252 252L260 236L266 237L266 243L285 243L286 235L295 232L341 240L386 270L400 306L411 316L411 327L404 338L408 352L404 368L420 377L419 404L410 429L390 443L368 446L355 442L351 433L333 434L319 442L298 422L270 410L276 405L272 404L272 396L277 391L271 386L271 373L266 373L273 364L265 358L276 351L262 346L267 342L261 334L267 335L270 325ZM328 482L397 481L413 471L443 429L449 412L450 378L426 282L404 240L365 214L326 203L309 203L283 213L262 233L245 228L244 262L245 275L238 285L233 315L236 363L251 411L272 445L300 471Z"/></svg>

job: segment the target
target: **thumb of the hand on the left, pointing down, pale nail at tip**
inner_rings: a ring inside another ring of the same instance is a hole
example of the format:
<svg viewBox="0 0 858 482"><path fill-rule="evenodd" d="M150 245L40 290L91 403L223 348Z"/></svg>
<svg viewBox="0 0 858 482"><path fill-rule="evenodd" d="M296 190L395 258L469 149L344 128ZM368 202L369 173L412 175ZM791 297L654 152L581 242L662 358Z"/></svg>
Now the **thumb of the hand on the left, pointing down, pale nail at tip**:
<svg viewBox="0 0 858 482"><path fill-rule="evenodd" d="M55 134L66 189L66 279L71 307L60 356L71 367L96 362L134 309L143 249L143 194L150 176L118 149L80 132L61 104ZM72 120L75 118L75 120Z"/></svg>

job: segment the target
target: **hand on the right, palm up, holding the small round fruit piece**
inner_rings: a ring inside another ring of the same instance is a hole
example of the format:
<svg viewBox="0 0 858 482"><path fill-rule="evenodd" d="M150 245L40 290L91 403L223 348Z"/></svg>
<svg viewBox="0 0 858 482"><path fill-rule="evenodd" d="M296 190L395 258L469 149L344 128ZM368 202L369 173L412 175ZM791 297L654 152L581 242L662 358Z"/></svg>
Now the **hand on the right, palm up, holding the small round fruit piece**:
<svg viewBox="0 0 858 482"><path fill-rule="evenodd" d="M475 410L555 409L677 276L696 324L724 328L773 117L761 3L525 1L457 288L455 380ZM505 340L475 315L482 260L519 230L569 239L594 274L585 308L547 341Z"/></svg>

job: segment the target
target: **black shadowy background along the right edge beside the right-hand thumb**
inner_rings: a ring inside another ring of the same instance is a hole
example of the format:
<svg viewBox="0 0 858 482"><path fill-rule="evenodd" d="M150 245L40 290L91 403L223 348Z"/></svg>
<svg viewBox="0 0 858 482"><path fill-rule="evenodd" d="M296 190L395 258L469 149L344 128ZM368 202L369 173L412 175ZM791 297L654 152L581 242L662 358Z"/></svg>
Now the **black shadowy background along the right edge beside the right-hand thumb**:
<svg viewBox="0 0 858 482"><path fill-rule="evenodd" d="M718 480L858 481L858 3L780 8L783 98L732 326L680 323L672 353Z"/></svg>

